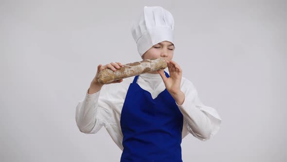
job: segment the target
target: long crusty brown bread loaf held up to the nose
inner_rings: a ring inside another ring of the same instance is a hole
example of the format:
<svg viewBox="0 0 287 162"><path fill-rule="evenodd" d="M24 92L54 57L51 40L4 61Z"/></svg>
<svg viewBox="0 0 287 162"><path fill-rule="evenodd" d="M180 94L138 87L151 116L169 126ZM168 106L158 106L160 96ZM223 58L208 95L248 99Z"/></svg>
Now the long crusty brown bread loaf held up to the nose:
<svg viewBox="0 0 287 162"><path fill-rule="evenodd" d="M109 68L104 69L99 72L98 81L102 84L106 84L112 81L140 75L150 71L165 69L166 67L167 63L163 59L145 59L140 62L127 63L116 71L112 71Z"/></svg>

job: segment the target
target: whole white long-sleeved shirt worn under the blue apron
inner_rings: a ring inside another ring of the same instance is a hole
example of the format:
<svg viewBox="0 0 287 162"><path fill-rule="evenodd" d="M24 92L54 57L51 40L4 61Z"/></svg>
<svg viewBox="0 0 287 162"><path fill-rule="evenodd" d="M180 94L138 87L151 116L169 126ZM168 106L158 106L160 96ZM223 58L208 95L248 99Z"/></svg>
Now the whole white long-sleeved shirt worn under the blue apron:
<svg viewBox="0 0 287 162"><path fill-rule="evenodd" d="M88 94L88 89L84 100L76 106L75 119L79 130L85 134L94 134L104 126L112 140L123 150L120 119L126 93L133 79L129 77L121 83L105 84L94 94ZM137 83L150 92L153 99L165 89L159 74L141 74ZM221 124L217 111L202 104L195 86L184 77L181 79L180 90L185 95L182 105L176 102L183 115L182 139L191 133L201 141L209 140Z"/></svg>

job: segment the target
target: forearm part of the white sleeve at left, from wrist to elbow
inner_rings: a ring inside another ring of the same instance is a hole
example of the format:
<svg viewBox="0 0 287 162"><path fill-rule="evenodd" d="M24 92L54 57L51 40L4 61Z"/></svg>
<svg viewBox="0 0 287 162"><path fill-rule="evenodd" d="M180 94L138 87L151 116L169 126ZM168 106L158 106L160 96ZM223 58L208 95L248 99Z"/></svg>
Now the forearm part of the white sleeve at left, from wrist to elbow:
<svg viewBox="0 0 287 162"><path fill-rule="evenodd" d="M103 126L103 122L97 118L99 109L97 104L101 90L94 94L88 94L88 90L84 100L78 102L75 119L81 132L92 134L98 132Z"/></svg>

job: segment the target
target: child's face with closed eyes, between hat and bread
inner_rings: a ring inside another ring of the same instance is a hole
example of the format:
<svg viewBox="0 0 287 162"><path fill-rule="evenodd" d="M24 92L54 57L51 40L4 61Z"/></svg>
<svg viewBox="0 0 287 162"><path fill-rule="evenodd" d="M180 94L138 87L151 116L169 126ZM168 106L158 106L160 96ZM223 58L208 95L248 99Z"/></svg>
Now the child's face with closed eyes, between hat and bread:
<svg viewBox="0 0 287 162"><path fill-rule="evenodd" d="M147 50L142 59L158 59L161 58L166 61L171 61L173 58L174 45L170 41L161 41L158 44L153 45L149 50Z"/></svg>

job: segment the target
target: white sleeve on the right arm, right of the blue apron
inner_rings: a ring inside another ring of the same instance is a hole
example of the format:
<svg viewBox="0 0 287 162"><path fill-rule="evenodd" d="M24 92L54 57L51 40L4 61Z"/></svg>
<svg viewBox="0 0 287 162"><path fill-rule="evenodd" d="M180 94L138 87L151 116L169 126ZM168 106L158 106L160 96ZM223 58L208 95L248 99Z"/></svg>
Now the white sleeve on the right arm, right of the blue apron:
<svg viewBox="0 0 287 162"><path fill-rule="evenodd" d="M217 111L205 106L198 98L197 90L191 81L184 80L181 90L185 94L182 105L178 105L188 132L201 141L212 138L220 128L221 118Z"/></svg>

